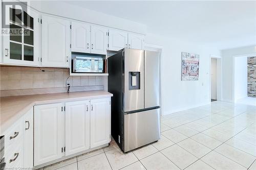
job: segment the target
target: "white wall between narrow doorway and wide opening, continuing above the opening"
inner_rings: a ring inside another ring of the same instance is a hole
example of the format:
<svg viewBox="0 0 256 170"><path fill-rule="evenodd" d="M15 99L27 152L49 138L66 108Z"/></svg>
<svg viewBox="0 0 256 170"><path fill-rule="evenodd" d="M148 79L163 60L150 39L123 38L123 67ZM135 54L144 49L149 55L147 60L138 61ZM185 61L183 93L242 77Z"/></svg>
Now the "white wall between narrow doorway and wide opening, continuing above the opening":
<svg viewBox="0 0 256 170"><path fill-rule="evenodd" d="M233 102L233 56L256 53L256 46L231 48L221 51L223 70L223 101Z"/></svg>

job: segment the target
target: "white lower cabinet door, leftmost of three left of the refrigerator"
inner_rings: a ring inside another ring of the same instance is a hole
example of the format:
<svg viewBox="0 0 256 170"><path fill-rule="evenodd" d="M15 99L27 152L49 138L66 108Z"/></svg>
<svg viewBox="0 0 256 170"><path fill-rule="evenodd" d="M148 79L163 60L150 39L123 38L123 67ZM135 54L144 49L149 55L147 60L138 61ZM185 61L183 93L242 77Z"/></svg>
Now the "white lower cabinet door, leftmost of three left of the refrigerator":
<svg viewBox="0 0 256 170"><path fill-rule="evenodd" d="M62 157L63 116L61 103L34 107L34 165Z"/></svg>

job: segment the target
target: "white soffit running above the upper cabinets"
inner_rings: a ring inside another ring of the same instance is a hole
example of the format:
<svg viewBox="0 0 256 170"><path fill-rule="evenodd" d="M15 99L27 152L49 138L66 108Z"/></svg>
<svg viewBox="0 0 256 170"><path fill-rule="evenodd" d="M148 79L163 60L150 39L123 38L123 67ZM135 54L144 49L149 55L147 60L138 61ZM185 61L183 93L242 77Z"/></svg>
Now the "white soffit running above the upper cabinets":
<svg viewBox="0 0 256 170"><path fill-rule="evenodd" d="M86 21L110 28L146 34L146 26L142 23L81 8L79 6L73 6L61 1L30 1L29 5L40 12L48 14Z"/></svg>

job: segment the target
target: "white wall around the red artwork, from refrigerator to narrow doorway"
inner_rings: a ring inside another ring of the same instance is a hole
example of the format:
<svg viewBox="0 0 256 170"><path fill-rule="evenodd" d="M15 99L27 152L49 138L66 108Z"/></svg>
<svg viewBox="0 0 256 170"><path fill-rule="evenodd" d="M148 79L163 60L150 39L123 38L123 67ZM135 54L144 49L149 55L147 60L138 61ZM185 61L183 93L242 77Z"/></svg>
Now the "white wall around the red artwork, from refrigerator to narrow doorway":
<svg viewBox="0 0 256 170"><path fill-rule="evenodd" d="M195 40L154 34L146 35L145 42L163 46L163 115L209 104L210 54L219 55L218 50ZM181 52L200 54L198 81L181 81Z"/></svg>

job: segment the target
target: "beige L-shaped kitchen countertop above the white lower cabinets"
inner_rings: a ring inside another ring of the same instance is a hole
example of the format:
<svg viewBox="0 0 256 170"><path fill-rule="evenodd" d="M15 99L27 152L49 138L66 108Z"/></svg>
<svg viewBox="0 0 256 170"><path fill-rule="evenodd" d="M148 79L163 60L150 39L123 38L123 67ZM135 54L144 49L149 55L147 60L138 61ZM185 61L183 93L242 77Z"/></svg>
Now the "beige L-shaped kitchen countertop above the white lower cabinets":
<svg viewBox="0 0 256 170"><path fill-rule="evenodd" d="M113 94L107 91L97 90L70 93L20 95L0 98L1 134L35 105L98 99L110 96L113 96Z"/></svg>

